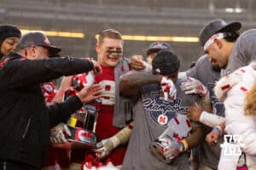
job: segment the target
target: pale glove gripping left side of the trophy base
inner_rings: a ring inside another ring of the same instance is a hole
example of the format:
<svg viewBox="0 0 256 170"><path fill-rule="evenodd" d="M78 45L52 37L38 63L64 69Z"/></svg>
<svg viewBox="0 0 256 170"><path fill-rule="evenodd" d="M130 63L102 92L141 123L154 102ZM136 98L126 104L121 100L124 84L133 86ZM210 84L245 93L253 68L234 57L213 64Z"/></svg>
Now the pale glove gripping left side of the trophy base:
<svg viewBox="0 0 256 170"><path fill-rule="evenodd" d="M67 133L68 136L71 136L71 132L65 123L61 122L55 127L52 127L50 129L50 136L49 136L50 142L53 144L67 142L67 139L65 138L64 133Z"/></svg>

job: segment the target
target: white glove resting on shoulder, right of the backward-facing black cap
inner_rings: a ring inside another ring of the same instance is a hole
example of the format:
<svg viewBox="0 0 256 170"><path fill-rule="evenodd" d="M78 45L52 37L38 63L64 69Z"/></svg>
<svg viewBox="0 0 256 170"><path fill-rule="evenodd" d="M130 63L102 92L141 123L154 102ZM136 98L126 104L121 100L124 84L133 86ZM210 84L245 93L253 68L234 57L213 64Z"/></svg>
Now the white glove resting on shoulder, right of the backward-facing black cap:
<svg viewBox="0 0 256 170"><path fill-rule="evenodd" d="M208 94L207 87L192 77L182 82L180 88L185 94L199 94L201 97L205 97Z"/></svg>

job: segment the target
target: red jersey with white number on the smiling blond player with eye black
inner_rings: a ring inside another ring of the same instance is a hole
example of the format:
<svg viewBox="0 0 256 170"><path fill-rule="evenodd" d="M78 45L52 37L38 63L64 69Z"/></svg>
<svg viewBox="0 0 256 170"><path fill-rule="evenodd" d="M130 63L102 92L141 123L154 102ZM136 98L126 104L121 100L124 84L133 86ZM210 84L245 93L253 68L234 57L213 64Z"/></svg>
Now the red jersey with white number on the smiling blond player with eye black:
<svg viewBox="0 0 256 170"><path fill-rule="evenodd" d="M95 82L102 86L102 105L96 124L98 141L112 137L119 132L118 127L113 127L113 111L115 104L114 68L102 66L102 75L95 77ZM125 146L119 146L108 156L113 165L122 165L125 156Z"/></svg>

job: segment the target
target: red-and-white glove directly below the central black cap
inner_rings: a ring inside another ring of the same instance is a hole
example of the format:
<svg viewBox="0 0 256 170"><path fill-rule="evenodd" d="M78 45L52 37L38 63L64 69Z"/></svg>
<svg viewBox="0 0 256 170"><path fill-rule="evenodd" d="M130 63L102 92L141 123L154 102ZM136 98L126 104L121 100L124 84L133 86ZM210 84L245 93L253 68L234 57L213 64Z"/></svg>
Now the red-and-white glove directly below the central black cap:
<svg viewBox="0 0 256 170"><path fill-rule="evenodd" d="M160 84L165 95L165 100L176 99L177 90L171 79L162 77Z"/></svg>

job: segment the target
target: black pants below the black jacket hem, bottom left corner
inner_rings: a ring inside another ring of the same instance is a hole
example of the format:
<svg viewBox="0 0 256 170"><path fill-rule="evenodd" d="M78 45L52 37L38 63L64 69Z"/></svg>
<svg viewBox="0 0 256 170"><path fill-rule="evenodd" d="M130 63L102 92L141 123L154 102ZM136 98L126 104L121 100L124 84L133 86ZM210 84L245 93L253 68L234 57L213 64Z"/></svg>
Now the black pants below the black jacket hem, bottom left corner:
<svg viewBox="0 0 256 170"><path fill-rule="evenodd" d="M40 169L40 168L39 168ZM0 160L0 170L39 170L25 163Z"/></svg>

